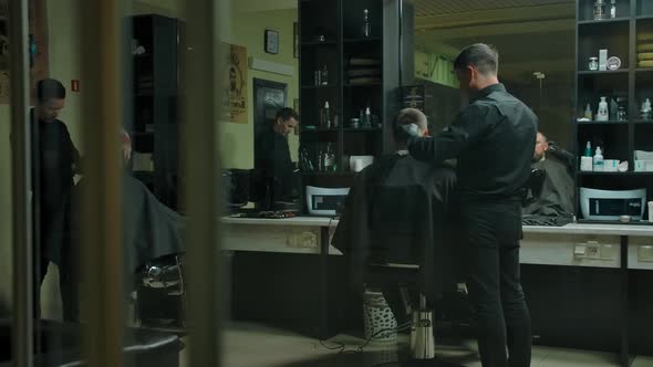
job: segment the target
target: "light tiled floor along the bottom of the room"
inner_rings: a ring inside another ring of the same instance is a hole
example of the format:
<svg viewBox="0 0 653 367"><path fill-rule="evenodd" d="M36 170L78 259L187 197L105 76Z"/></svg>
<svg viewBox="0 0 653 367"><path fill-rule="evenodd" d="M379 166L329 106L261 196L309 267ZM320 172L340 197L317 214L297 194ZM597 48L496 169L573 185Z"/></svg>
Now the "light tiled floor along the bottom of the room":
<svg viewBox="0 0 653 367"><path fill-rule="evenodd" d="M330 350L319 340L253 324L230 324L225 332L224 366L227 367L372 367L397 358L396 344L371 344L363 354L353 353L362 339L339 335L331 339L346 345L344 354ZM402 338L400 345L405 343ZM326 343L328 346L333 345ZM437 346L436 354L446 361L459 366L480 367L475 350L475 343L458 346ZM188 366L185 354L182 366ZM584 352L535 347L532 367L607 367L619 366L618 355L609 353ZM636 357L632 367L653 367L653 357Z"/></svg>

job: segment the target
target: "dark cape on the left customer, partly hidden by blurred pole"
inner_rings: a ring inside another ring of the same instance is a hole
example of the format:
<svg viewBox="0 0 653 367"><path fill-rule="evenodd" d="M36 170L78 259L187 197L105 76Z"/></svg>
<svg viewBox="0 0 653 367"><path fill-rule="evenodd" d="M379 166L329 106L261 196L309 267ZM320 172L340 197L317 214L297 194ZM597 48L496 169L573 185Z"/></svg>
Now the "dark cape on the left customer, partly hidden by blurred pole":
<svg viewBox="0 0 653 367"><path fill-rule="evenodd" d="M75 187L75 200L81 199L84 180ZM79 206L77 206L79 208ZM74 239L81 240L79 216L75 216ZM129 277L146 262L183 253L186 218L160 201L137 179L123 177L123 245L125 277Z"/></svg>

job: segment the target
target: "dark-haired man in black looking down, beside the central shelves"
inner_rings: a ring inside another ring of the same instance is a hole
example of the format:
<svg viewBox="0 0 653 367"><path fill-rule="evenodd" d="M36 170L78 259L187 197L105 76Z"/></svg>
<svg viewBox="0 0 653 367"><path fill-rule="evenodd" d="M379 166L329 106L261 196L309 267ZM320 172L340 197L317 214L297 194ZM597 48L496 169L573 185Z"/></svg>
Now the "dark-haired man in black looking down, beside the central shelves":
<svg viewBox="0 0 653 367"><path fill-rule="evenodd" d="M274 122L257 137L255 168L271 190L267 192L268 200L281 200L293 189L288 135L297 127L298 120L299 116L292 108L283 107L277 113Z"/></svg>

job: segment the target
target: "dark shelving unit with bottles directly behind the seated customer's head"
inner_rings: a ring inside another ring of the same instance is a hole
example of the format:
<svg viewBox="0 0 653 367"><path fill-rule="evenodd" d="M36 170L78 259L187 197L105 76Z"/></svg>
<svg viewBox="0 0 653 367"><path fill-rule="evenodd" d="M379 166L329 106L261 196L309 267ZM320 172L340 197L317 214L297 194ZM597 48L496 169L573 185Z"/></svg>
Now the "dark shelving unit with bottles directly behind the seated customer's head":
<svg viewBox="0 0 653 367"><path fill-rule="evenodd" d="M308 153L315 168L319 168L320 151L326 145L335 157L334 168L329 171L302 168L302 195L309 185L351 187L355 172L349 167L349 157L379 157L388 149L384 143L390 124L385 92L398 87L398 83L391 85L386 76L388 73L398 75L398 67L387 65L384 59L387 52L398 55L398 42L391 44L383 23L400 17L398 9L396 13L391 13L393 11L388 8L382 0L299 1L300 149ZM370 14L370 36L364 36L362 32L365 9ZM315 74L324 66L328 85L315 85ZM338 120L336 126L321 125L325 102L329 102L331 120ZM363 127L360 120L359 127L353 128L351 119L360 118L361 111L364 113L367 107L375 116L372 125ZM301 202L303 205L305 200L301 199ZM303 213L308 213L307 208Z"/></svg>

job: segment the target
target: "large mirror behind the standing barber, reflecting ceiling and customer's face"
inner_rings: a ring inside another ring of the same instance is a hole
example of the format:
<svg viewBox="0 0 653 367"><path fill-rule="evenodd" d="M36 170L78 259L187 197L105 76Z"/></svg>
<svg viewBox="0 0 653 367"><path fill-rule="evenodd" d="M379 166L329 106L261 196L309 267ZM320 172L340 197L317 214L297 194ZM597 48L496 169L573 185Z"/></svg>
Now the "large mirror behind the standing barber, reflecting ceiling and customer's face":
<svg viewBox="0 0 653 367"><path fill-rule="evenodd" d="M548 176L543 187L533 188L539 196L525 202L525 214L571 217L576 191L569 124L574 118L574 1L545 4L533 0L537 12L508 4L494 9L496 6L438 0L414 3L414 84L423 90L413 98L423 101L432 135L453 123L462 106L453 65L456 55L476 42L494 45L500 54L500 82L539 118L533 168ZM483 27L470 22L471 13L484 19Z"/></svg>

